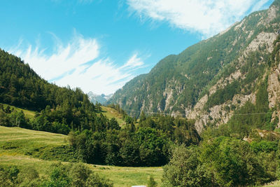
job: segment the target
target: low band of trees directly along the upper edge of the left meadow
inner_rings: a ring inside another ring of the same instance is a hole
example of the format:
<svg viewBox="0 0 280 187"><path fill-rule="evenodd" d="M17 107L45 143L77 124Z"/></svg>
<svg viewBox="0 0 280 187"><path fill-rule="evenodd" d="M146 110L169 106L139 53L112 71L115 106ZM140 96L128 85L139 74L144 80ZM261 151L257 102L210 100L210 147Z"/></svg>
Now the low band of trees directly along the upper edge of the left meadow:
<svg viewBox="0 0 280 187"><path fill-rule="evenodd" d="M0 105L1 106L1 105ZM25 127L33 130L69 134L71 130L106 131L119 130L120 125L116 118L109 120L102 113L92 113L83 109L70 111L68 106L50 109L46 106L41 113L33 118L27 118L20 110L0 107L0 125L7 127Z"/></svg>

